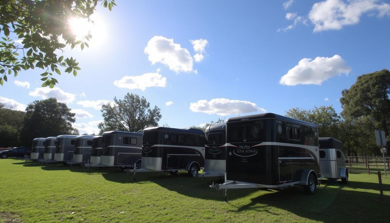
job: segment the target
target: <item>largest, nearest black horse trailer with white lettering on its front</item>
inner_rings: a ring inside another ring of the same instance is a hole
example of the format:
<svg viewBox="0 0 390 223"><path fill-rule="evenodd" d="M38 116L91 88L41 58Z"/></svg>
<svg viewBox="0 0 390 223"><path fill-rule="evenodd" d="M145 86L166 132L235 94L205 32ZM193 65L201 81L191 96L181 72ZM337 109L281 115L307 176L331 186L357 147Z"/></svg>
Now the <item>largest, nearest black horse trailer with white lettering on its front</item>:
<svg viewBox="0 0 390 223"><path fill-rule="evenodd" d="M223 189L303 186L314 194L321 181L317 125L273 113L226 121Z"/></svg>

